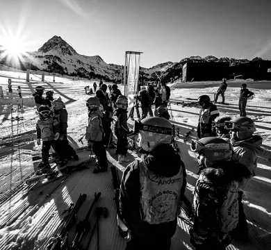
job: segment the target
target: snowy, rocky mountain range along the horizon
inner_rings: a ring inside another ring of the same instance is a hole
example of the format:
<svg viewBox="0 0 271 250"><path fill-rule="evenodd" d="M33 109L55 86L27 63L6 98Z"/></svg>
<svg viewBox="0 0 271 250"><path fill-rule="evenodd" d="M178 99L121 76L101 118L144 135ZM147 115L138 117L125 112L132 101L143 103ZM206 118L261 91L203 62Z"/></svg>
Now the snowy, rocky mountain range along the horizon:
<svg viewBox="0 0 271 250"><path fill-rule="evenodd" d="M0 63L10 65L8 57L2 58L3 47L0 45ZM254 58L253 60L262 60ZM252 61L253 61L252 60ZM238 65L247 63L247 59L235 58L216 58L215 56L190 56L183 58L179 63L161 63L149 69L140 67L140 79L145 81L156 81L158 76L163 81L171 81L180 78L182 67L188 62L215 62L229 63L229 65ZM28 52L23 56L19 69L43 70L46 72L55 72L58 74L67 74L70 76L80 76L86 78L104 78L108 81L114 81L122 72L122 65L107 64L100 56L83 56L73 49L60 36L54 35L53 38L45 42L38 51Z"/></svg>

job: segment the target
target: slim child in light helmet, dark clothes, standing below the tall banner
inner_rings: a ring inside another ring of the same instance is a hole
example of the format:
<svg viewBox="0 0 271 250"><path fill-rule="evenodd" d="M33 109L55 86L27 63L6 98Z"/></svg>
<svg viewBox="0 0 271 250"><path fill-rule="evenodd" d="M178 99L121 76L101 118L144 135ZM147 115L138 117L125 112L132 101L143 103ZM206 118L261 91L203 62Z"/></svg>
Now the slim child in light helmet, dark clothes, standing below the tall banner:
<svg viewBox="0 0 271 250"><path fill-rule="evenodd" d="M116 153L118 155L119 163L129 163L129 158L127 157L127 134L129 133L129 127L127 125L127 107L128 100L127 97L120 95L117 97L116 101L117 109L115 110L115 116L117 121L115 122L115 135L117 137L117 149Z"/></svg>

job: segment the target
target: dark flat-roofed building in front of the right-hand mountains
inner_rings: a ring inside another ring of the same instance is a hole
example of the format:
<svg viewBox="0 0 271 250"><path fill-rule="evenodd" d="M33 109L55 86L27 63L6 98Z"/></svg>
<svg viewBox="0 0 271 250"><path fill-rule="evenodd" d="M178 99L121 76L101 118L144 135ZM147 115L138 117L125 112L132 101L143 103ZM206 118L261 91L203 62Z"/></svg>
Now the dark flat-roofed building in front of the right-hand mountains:
<svg viewBox="0 0 271 250"><path fill-rule="evenodd" d="M183 82L220 81L229 74L229 63L186 63L183 65Z"/></svg>

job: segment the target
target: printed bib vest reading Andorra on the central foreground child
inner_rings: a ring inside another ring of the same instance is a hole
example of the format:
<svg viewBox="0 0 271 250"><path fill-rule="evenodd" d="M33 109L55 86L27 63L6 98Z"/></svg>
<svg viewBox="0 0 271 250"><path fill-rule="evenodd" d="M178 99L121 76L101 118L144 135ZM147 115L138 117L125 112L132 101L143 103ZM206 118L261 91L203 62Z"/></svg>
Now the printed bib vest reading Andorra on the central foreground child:
<svg viewBox="0 0 271 250"><path fill-rule="evenodd" d="M140 164L141 197L143 221L149 224L172 222L179 213L183 168L172 177L163 177L149 171Z"/></svg>

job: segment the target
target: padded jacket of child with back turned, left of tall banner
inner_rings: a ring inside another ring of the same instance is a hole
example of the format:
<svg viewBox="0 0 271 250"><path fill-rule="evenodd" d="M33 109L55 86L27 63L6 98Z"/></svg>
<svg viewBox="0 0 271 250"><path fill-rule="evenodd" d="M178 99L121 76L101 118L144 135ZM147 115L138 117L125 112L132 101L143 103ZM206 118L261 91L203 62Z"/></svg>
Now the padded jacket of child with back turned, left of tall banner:
<svg viewBox="0 0 271 250"><path fill-rule="evenodd" d="M85 139L92 142L100 142L103 139L102 114L100 110L90 111L88 113L88 126L85 133Z"/></svg>

